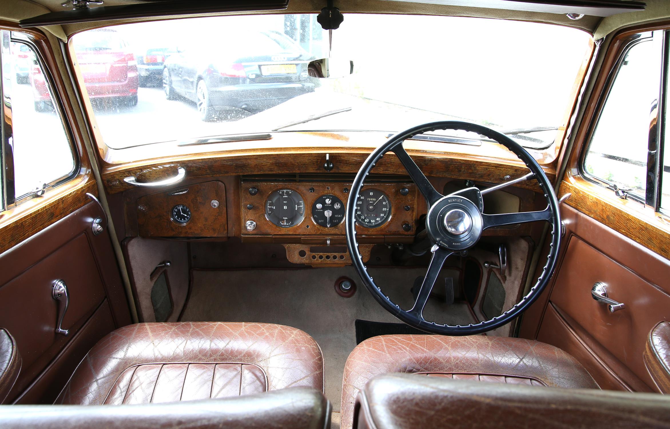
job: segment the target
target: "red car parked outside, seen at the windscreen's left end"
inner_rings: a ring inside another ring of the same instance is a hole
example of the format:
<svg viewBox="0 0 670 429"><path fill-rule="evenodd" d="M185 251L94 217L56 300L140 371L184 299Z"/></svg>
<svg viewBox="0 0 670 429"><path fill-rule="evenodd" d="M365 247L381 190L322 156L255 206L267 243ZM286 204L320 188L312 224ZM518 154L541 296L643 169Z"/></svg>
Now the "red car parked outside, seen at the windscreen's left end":
<svg viewBox="0 0 670 429"><path fill-rule="evenodd" d="M120 34L113 29L80 34L74 37L74 50L90 99L116 99L125 105L137 105L137 61ZM43 110L50 97L39 66L33 66L30 83L35 109Z"/></svg>

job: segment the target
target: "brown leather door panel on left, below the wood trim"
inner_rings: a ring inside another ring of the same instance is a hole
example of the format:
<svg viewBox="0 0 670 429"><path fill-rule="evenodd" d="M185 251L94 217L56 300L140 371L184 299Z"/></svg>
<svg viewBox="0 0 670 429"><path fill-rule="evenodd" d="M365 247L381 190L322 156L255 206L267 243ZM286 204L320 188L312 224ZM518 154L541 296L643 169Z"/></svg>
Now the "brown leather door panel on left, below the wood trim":
<svg viewBox="0 0 670 429"><path fill-rule="evenodd" d="M125 304L123 290L109 233L96 236L91 231L91 221L97 216L99 206L90 203L0 255L0 326L14 336L23 359L8 400L17 400L27 393L26 389L37 389L28 397L52 401L62 384L31 383L38 378L53 378L47 374L50 371L71 373L91 342L129 322L127 306L124 312L121 305ZM52 285L58 279L64 280L69 292L62 323L70 330L68 336L55 332L60 309L52 298ZM100 320L96 324L101 326L89 326L88 332L82 332L94 314ZM87 341L78 340L81 336ZM84 343L86 349L76 347ZM71 360L68 365L56 362L61 355ZM57 377L62 383L69 373L64 375L64 380L62 375Z"/></svg>

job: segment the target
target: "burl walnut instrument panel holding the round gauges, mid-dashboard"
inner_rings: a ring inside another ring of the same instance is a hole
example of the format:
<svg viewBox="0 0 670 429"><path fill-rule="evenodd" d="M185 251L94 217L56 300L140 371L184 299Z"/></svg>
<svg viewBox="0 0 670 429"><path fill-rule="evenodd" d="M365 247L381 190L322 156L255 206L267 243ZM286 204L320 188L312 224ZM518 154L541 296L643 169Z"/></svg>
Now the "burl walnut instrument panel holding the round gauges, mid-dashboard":
<svg viewBox="0 0 670 429"><path fill-rule="evenodd" d="M338 237L339 240L334 242L344 243L346 235L344 219L340 219L340 223L332 227L319 225L313 216L313 208L316 210L317 204L325 204L324 198L332 195L339 198L344 204L341 210L346 210L350 188L351 184L346 182L241 182L242 237L249 241L264 237L266 240L258 241L275 243L319 243L320 238ZM275 191L282 190L292 191L292 196L297 194L300 197L297 200L302 199L304 202L302 208L304 218L288 227L275 225L267 215L268 207L270 210L275 210L277 202L272 200L271 195ZM390 215L377 227L369 228L357 224L358 239L361 242L377 243L413 239L417 221L417 187L415 184L411 182L371 183L363 186L362 193L366 192L374 192L375 196L386 196L387 198L381 198L381 204L385 208L390 205ZM373 204L374 202L370 203L371 206ZM317 213L323 223L322 211L317 211ZM253 229L247 228L249 221L253 222Z"/></svg>

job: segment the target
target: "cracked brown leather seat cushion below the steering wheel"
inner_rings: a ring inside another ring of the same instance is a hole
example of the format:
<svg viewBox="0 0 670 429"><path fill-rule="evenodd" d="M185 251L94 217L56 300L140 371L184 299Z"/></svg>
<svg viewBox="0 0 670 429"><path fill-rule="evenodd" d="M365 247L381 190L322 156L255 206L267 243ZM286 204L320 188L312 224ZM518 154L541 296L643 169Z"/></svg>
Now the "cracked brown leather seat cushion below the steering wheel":
<svg viewBox="0 0 670 429"><path fill-rule="evenodd" d="M358 391L373 376L419 373L494 383L598 389L561 349L502 336L382 335L360 343L344 367L342 429L352 427Z"/></svg>

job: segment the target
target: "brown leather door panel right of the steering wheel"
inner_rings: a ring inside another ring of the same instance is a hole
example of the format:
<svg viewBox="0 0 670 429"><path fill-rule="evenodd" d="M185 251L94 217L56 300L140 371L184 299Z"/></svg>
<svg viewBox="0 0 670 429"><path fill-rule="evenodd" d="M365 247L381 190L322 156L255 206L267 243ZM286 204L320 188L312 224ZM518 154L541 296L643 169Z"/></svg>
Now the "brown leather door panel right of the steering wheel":
<svg viewBox="0 0 670 429"><path fill-rule="evenodd" d="M670 318L670 261L570 206L561 214L567 242L537 339L574 355L604 389L657 390L643 356L650 330ZM626 308L594 300L596 282Z"/></svg>

